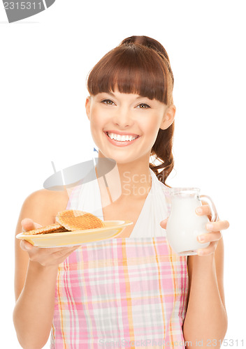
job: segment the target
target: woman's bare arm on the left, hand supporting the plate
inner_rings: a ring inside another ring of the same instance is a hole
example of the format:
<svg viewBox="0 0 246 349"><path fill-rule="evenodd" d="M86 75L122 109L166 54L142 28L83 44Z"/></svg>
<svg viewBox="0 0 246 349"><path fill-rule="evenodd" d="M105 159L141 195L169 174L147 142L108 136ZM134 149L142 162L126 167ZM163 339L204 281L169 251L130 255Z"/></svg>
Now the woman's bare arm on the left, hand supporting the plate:
<svg viewBox="0 0 246 349"><path fill-rule="evenodd" d="M61 193L45 190L32 193L22 206L16 234L54 223L55 214L66 209L67 200ZM78 246L38 248L15 239L16 304L13 322L22 348L40 349L48 341L58 266L76 248Z"/></svg>

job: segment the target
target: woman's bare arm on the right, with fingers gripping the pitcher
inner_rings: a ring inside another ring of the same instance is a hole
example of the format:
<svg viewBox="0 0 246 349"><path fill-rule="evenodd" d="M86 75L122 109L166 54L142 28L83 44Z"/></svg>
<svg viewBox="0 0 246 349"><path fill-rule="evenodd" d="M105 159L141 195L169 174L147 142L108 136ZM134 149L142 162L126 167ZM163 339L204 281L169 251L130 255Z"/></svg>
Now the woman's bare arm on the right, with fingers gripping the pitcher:
<svg viewBox="0 0 246 349"><path fill-rule="evenodd" d="M210 216L208 205L202 205L198 209L198 215ZM226 334L224 244L221 230L227 228L228 221L208 223L209 234L203 235L203 240L198 241L210 242L210 245L198 250L198 255L188 257L189 293L183 334L184 341L192 347L220 348Z"/></svg>

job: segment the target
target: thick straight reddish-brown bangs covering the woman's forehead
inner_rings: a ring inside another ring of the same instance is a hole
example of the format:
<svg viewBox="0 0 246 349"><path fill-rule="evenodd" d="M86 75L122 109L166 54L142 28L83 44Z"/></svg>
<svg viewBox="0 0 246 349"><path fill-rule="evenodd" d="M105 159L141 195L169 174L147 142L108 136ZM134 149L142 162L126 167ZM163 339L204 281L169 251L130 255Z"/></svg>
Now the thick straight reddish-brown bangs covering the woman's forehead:
<svg viewBox="0 0 246 349"><path fill-rule="evenodd" d="M140 45L124 45L108 52L92 68L87 89L94 96L118 89L168 104L172 85L168 68L157 52Z"/></svg>

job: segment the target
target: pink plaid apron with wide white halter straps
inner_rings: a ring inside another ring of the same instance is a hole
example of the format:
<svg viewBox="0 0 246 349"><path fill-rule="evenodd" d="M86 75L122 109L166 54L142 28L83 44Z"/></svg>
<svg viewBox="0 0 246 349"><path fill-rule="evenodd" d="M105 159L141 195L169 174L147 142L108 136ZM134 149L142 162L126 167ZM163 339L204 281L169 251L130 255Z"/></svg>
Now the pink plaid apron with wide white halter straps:
<svg viewBox="0 0 246 349"><path fill-rule="evenodd" d="M171 250L159 225L171 205L150 173L131 236L82 244L59 265L50 348L185 348L187 258ZM87 186L73 191L67 208L103 218L98 184Z"/></svg>

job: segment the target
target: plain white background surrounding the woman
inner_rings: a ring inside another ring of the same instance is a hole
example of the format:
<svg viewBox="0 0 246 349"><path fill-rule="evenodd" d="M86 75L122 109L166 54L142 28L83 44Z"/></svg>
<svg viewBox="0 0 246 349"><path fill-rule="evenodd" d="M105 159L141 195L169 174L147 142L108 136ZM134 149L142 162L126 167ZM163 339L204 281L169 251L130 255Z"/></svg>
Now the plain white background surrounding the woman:
<svg viewBox="0 0 246 349"><path fill-rule="evenodd" d="M1 348L20 348L12 312L22 202L43 187L51 161L59 170L92 157L87 73L131 35L159 40L171 60L177 112L167 183L201 188L231 223L224 232L226 339L246 346L244 3L57 0L12 24L0 4Z"/></svg>

